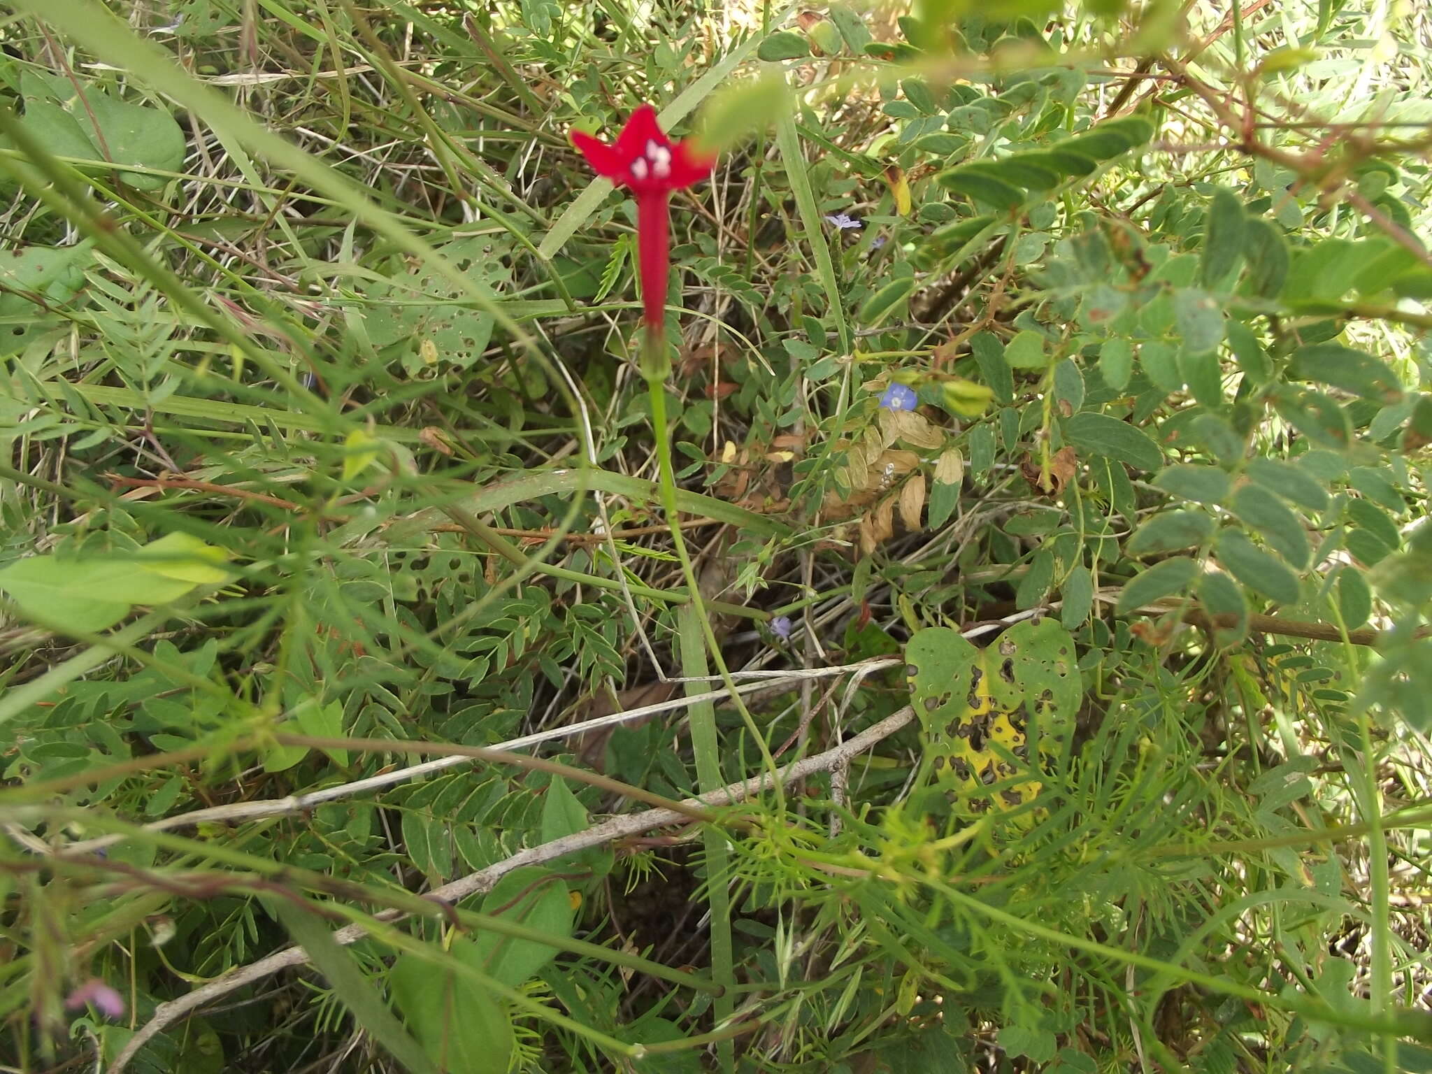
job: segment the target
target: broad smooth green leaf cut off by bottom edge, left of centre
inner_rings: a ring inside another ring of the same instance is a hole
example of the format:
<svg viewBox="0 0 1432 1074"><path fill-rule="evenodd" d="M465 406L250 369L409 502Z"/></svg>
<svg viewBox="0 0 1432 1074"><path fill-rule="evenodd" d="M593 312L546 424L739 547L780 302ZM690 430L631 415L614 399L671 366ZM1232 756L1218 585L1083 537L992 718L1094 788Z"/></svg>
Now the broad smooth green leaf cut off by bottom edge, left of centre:
<svg viewBox="0 0 1432 1074"><path fill-rule="evenodd" d="M453 939L448 954L478 961L475 944ZM414 954L398 955L388 971L388 992L424 1051L444 1071L505 1071L513 1053L513 1024L497 1001L467 975Z"/></svg>

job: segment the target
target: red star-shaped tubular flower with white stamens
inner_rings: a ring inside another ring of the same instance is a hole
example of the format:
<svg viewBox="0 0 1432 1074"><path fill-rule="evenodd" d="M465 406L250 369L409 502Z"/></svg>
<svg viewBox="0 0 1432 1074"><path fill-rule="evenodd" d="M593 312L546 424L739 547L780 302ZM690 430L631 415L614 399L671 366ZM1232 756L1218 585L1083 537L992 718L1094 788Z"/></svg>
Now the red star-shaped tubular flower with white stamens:
<svg viewBox="0 0 1432 1074"><path fill-rule="evenodd" d="M587 158L591 170L617 186L626 186L636 198L642 319L654 337L666 324L666 279L672 261L667 205L672 190L683 190L709 176L716 155L696 149L690 139L672 142L656 122L656 109L650 105L642 105L632 113L610 146L580 130L571 132L571 143Z"/></svg>

